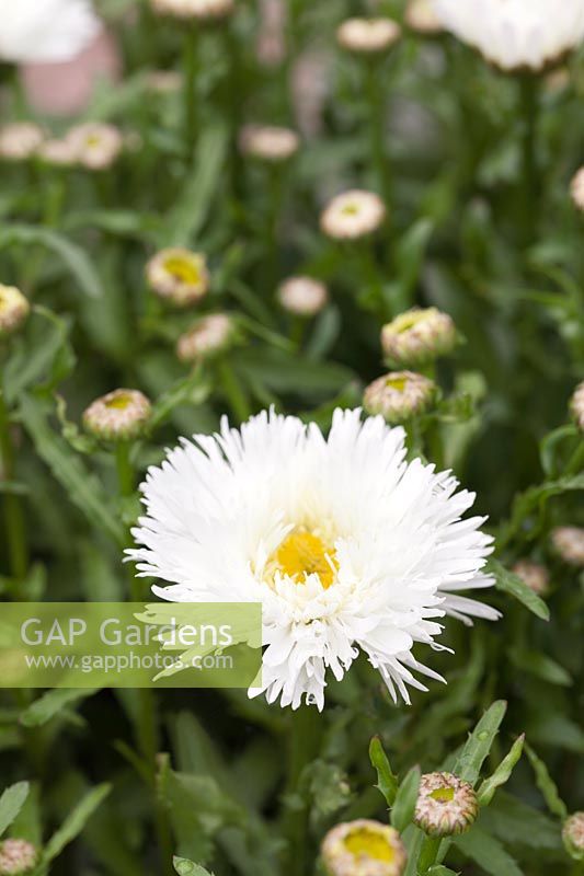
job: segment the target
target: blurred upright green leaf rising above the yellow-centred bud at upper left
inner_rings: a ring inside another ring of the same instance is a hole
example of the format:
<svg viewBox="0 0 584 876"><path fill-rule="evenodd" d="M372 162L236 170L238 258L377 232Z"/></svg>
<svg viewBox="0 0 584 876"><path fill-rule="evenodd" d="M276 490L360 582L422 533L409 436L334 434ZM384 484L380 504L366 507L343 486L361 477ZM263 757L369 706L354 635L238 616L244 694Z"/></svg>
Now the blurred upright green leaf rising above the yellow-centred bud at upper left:
<svg viewBox="0 0 584 876"><path fill-rule="evenodd" d="M228 130L222 124L205 126L201 131L193 172L163 223L162 245L187 246L196 239L217 195L227 141Z"/></svg>

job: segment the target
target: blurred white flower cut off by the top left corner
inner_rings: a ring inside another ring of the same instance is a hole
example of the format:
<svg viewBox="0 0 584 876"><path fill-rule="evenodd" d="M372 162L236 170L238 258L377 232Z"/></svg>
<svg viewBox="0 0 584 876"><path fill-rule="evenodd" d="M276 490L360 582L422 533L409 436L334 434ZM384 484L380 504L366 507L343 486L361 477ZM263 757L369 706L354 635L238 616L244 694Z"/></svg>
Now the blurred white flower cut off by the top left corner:
<svg viewBox="0 0 584 876"><path fill-rule="evenodd" d="M4 61L68 61L102 30L90 0L0 0L0 21Z"/></svg>

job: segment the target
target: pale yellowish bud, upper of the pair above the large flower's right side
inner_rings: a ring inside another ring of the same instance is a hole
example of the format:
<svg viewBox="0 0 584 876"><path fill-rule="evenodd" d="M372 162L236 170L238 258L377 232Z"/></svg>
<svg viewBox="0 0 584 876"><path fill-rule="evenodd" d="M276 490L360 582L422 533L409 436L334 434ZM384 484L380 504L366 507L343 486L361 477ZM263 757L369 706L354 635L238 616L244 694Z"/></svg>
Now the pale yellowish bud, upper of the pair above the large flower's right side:
<svg viewBox="0 0 584 876"><path fill-rule="evenodd" d="M447 356L457 344L456 326L436 308L414 309L396 316L381 330L381 346L394 365L420 367Z"/></svg>

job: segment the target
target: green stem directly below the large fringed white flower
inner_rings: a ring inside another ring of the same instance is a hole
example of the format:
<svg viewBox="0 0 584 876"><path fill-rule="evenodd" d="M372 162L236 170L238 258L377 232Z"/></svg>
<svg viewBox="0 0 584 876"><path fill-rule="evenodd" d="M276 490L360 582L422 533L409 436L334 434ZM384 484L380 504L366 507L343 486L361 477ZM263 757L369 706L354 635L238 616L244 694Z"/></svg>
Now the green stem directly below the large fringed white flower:
<svg viewBox="0 0 584 876"><path fill-rule="evenodd" d="M306 876L308 862L312 860L308 849L308 805L302 793L306 768L318 757L320 747L320 713L313 705L301 705L290 714L288 750L288 780L286 796L294 796L285 819L288 840L286 876Z"/></svg>

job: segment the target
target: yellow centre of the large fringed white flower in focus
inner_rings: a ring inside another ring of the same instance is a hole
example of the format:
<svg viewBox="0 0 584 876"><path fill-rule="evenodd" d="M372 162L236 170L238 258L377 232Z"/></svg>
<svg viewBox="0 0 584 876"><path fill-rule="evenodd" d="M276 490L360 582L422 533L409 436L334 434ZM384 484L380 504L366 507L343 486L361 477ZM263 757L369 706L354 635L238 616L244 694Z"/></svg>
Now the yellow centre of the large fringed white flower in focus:
<svg viewBox="0 0 584 876"><path fill-rule="evenodd" d="M294 530L274 551L271 565L296 584L305 584L308 575L318 575L327 590L333 584L339 563L334 549L313 532Z"/></svg>

